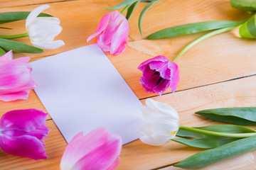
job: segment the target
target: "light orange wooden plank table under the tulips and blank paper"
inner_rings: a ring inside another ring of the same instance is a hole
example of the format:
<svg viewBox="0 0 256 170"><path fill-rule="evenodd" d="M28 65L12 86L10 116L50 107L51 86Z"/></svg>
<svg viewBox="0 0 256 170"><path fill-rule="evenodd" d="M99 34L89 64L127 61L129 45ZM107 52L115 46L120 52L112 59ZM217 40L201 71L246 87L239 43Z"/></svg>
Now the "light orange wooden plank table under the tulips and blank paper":
<svg viewBox="0 0 256 170"><path fill-rule="evenodd" d="M31 61L88 45L86 39L95 32L106 8L119 4L121 0L1 0L0 12L31 11L41 4L49 4L46 13L60 18L63 32L57 39L66 45L57 50L46 50L41 54L15 54L14 57L31 57ZM193 115L207 108L256 106L256 41L235 38L233 33L223 33L205 40L178 60L181 81L176 93L165 91L162 96L145 93L139 77L138 65L156 55L172 59L195 35L168 38L165 40L143 40L137 21L146 3L140 3L129 21L129 44L118 56L106 53L130 88L144 103L146 98L169 103L176 108L181 125L216 125L217 122ZM142 22L144 36L156 30L182 23L198 21L229 20L241 21L249 15L230 6L229 0L162 0L146 12ZM1 25L1 35L25 33L25 22L18 21ZM28 38L18 41L30 44ZM95 40L90 44L95 43ZM46 66L47 67L47 66ZM26 108L43 108L34 91L28 101L0 101L0 115L7 111ZM72 117L72 115L70 115ZM0 169L59 169L60 159L67 143L48 115L46 125L50 133L46 139L47 160L33 160L4 153L0 149ZM256 127L251 127L256 128ZM172 166L202 149L186 147L169 142L161 147L144 145L139 140L124 145L121 163L117 169L178 169ZM206 169L255 169L256 151L234 159L214 164Z"/></svg>

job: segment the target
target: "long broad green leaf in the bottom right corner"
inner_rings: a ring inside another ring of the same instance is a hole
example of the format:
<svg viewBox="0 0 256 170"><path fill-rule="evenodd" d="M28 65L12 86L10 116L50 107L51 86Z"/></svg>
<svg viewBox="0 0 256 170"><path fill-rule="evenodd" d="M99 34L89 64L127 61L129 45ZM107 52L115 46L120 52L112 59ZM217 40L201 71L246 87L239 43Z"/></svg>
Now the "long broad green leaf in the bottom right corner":
<svg viewBox="0 0 256 170"><path fill-rule="evenodd" d="M178 164L175 164L174 166L178 166L183 169L200 169L210 164L214 164L215 162L220 162L224 159L229 159L240 154L250 152L254 149L256 149L256 135L236 140L214 149L199 152L184 159Z"/></svg>

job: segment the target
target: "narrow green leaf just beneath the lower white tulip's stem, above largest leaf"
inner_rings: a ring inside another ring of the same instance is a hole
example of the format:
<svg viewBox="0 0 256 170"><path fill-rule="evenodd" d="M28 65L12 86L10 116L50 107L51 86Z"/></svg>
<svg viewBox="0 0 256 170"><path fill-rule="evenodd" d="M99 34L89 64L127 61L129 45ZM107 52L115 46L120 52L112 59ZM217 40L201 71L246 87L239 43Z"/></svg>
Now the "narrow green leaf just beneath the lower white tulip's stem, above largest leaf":
<svg viewBox="0 0 256 170"><path fill-rule="evenodd" d="M203 149L212 149L215 147L220 147L221 145L225 145L229 142L233 142L235 140L239 140L240 138L231 138L231 137L206 137L196 140L188 140L183 138L172 139L175 142L179 142L183 145L187 145L189 147L198 147Z"/></svg>

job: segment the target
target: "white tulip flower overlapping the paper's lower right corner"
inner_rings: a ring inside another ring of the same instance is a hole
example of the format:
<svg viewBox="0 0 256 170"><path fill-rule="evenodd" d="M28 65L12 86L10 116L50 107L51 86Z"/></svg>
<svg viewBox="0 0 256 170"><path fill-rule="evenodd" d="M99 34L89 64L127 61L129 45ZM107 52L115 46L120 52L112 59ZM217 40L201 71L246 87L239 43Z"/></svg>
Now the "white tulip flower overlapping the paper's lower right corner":
<svg viewBox="0 0 256 170"><path fill-rule="evenodd" d="M160 146L176 136L179 127L178 113L166 103L146 99L142 106L143 125L140 128L142 142L147 145Z"/></svg>

